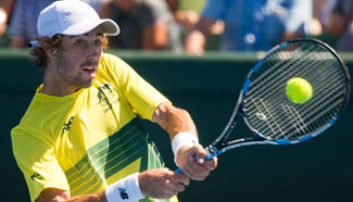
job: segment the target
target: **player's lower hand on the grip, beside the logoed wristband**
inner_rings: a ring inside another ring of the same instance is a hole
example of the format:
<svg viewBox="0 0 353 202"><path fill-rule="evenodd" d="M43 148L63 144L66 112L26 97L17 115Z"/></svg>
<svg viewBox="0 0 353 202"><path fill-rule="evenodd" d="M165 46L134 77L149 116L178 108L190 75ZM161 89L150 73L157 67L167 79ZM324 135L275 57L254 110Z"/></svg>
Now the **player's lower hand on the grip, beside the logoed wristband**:
<svg viewBox="0 0 353 202"><path fill-rule="evenodd" d="M168 168L149 169L140 173L139 185L143 195L156 199L169 199L185 190L190 179Z"/></svg>

